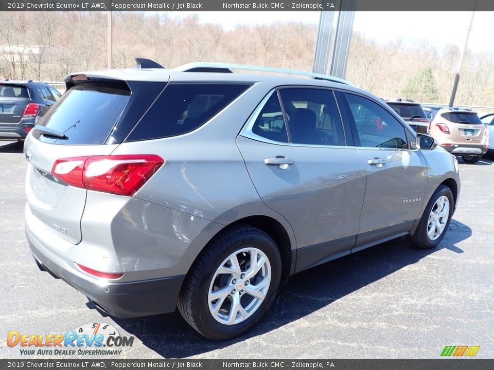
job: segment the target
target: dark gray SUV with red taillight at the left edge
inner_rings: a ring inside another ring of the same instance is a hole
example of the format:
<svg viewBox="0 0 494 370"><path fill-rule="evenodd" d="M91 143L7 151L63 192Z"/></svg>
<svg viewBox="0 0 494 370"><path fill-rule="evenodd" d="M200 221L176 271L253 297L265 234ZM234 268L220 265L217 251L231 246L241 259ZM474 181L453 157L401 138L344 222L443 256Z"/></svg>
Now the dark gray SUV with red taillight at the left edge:
<svg viewBox="0 0 494 370"><path fill-rule="evenodd" d="M0 140L24 140L60 98L57 89L43 82L0 81Z"/></svg>

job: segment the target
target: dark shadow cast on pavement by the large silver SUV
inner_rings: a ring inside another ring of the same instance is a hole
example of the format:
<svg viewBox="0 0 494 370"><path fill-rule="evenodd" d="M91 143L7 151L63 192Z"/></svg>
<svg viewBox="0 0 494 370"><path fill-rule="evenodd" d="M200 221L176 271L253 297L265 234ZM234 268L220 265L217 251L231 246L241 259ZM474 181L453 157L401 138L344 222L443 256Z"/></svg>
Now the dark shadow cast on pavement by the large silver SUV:
<svg viewBox="0 0 494 370"><path fill-rule="evenodd" d="M202 337L182 319L178 311L166 315L113 320L164 358L199 355L303 318L351 292L417 263L431 253L442 249L463 253L456 244L471 234L468 226L453 219L449 232L439 246L433 249L416 248L407 237L400 237L291 276L288 285L280 289L276 301L261 323L247 334L229 341L214 342ZM87 305L95 308L91 303Z"/></svg>

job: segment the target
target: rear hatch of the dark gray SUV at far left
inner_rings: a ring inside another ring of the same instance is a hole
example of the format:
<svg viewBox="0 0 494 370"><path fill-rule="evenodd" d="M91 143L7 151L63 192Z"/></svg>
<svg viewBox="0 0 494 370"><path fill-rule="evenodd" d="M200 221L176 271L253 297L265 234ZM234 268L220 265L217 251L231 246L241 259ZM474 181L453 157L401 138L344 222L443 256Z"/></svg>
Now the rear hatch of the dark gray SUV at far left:
<svg viewBox="0 0 494 370"><path fill-rule="evenodd" d="M31 102L26 86L0 83L0 124L21 122L26 106Z"/></svg>

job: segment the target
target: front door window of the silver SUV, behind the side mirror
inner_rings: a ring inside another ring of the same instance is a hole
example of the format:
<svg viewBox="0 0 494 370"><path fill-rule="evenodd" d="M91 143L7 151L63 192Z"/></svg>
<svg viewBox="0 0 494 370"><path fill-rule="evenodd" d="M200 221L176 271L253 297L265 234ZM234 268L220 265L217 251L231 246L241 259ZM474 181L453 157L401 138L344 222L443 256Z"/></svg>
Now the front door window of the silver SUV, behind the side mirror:
<svg viewBox="0 0 494 370"><path fill-rule="evenodd" d="M345 94L361 146L407 149L405 129L386 109L354 94Z"/></svg>

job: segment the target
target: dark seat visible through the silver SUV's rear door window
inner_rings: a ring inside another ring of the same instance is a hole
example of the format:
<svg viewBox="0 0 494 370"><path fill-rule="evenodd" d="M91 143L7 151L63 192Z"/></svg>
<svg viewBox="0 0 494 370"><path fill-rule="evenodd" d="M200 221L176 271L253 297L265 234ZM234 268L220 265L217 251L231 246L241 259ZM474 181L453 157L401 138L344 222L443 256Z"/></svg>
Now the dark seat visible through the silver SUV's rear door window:
<svg viewBox="0 0 494 370"><path fill-rule="evenodd" d="M321 145L321 135L315 131L316 123L313 110L296 108L289 122L292 143Z"/></svg>

